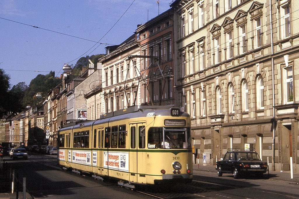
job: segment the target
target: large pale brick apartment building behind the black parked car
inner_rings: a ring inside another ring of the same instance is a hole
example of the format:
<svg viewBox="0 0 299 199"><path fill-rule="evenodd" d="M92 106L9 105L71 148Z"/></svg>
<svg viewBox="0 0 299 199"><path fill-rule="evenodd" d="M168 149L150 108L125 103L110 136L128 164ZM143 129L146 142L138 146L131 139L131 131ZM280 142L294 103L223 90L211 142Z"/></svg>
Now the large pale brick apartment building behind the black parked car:
<svg viewBox="0 0 299 199"><path fill-rule="evenodd" d="M246 144L272 170L299 172L298 3L178 0L171 7L177 92L201 163L203 153L215 165Z"/></svg>

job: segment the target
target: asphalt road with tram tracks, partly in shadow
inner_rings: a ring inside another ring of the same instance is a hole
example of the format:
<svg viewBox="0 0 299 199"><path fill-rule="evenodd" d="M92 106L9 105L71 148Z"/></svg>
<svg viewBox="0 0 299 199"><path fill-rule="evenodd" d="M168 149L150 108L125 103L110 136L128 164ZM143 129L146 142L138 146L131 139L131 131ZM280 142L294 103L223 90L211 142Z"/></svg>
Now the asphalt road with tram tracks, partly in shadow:
<svg viewBox="0 0 299 199"><path fill-rule="evenodd" d="M287 182L232 175L218 177L215 172L194 171L191 184L141 186L135 191L116 185L115 180L99 181L61 170L55 156L30 155L28 160L7 161L19 179L26 177L27 190L34 198L230 198L230 199L294 199L299 198L298 185Z"/></svg>

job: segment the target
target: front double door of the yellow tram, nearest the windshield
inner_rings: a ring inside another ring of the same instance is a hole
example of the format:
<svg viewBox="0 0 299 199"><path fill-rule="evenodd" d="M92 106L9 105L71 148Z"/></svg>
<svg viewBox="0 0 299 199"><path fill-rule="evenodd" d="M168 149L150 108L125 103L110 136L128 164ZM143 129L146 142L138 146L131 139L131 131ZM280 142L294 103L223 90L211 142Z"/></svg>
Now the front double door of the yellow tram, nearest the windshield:
<svg viewBox="0 0 299 199"><path fill-rule="evenodd" d="M145 123L129 124L130 150L129 150L129 180L131 182L145 182Z"/></svg>

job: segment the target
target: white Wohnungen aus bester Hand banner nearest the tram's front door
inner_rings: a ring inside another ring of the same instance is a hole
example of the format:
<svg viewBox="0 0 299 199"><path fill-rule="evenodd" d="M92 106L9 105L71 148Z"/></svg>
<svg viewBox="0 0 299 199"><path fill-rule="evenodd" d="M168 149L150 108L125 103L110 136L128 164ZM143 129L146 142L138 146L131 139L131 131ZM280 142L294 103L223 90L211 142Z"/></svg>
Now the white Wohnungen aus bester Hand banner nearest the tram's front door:
<svg viewBox="0 0 299 199"><path fill-rule="evenodd" d="M129 171L128 152L107 152L104 151L104 168L114 168L121 171Z"/></svg>

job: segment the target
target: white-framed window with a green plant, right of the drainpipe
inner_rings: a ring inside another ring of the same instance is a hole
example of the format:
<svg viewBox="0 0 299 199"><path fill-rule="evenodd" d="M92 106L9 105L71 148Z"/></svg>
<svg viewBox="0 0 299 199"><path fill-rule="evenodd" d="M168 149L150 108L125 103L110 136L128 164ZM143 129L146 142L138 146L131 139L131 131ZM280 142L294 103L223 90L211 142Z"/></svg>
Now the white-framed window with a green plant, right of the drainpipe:
<svg viewBox="0 0 299 199"><path fill-rule="evenodd" d="M293 66L283 68L284 75L284 99L285 104L293 103Z"/></svg>

